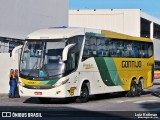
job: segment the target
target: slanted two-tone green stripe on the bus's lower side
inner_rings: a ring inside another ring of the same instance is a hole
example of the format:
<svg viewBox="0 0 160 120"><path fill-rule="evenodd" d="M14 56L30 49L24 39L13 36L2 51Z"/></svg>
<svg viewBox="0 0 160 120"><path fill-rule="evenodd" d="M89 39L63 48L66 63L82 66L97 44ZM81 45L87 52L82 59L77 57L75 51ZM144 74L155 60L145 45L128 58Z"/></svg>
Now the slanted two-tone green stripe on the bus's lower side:
<svg viewBox="0 0 160 120"><path fill-rule="evenodd" d="M112 58L95 58L101 78L107 86L122 85L117 68Z"/></svg>

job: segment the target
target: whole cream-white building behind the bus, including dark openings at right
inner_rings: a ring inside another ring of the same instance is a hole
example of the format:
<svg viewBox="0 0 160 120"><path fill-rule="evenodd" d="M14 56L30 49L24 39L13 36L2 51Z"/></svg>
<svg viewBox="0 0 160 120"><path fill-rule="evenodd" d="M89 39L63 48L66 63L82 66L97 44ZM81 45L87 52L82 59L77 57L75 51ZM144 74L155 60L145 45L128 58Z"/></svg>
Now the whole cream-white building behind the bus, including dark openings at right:
<svg viewBox="0 0 160 120"><path fill-rule="evenodd" d="M69 26L105 29L154 41L154 54L160 67L160 19L140 9L70 10ZM160 69L160 68L159 68Z"/></svg>

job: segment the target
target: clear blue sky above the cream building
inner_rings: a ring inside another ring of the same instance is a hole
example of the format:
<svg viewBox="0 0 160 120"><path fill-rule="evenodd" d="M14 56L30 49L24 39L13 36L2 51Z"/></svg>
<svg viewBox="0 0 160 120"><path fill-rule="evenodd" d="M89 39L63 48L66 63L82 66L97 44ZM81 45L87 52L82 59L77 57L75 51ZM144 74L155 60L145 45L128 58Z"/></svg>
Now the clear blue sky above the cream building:
<svg viewBox="0 0 160 120"><path fill-rule="evenodd" d="M69 9L141 9L160 19L160 0L69 0Z"/></svg>

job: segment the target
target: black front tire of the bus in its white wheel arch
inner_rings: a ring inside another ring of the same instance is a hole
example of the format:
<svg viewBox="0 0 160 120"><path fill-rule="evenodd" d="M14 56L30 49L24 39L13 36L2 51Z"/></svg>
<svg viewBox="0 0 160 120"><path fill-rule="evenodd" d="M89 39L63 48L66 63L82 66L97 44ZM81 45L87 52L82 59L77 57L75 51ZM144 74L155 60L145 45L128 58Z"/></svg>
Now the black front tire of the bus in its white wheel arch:
<svg viewBox="0 0 160 120"><path fill-rule="evenodd" d="M76 98L76 103L85 103L89 99L89 89L86 83L82 84L80 96Z"/></svg>

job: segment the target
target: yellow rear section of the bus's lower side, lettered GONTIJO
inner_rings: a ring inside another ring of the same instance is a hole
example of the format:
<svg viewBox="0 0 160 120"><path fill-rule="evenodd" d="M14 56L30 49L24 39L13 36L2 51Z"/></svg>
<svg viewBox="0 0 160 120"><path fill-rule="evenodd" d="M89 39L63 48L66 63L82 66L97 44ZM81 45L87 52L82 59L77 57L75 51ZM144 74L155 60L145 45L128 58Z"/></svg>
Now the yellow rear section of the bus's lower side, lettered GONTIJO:
<svg viewBox="0 0 160 120"><path fill-rule="evenodd" d="M140 78L143 78L144 89L153 85L152 69L154 60L151 58L114 58L114 63L120 79L122 80L122 88L130 90L132 79L136 78L138 84Z"/></svg>

